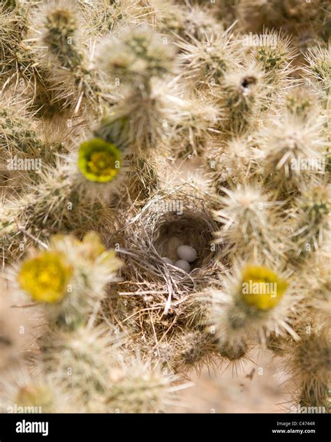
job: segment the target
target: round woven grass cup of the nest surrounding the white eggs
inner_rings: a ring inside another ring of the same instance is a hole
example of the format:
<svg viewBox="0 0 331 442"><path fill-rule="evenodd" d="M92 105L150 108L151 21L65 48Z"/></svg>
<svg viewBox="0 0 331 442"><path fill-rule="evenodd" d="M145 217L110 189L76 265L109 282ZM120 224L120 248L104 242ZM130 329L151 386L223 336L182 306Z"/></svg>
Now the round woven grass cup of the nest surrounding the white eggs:
<svg viewBox="0 0 331 442"><path fill-rule="evenodd" d="M111 239L121 245L119 256L126 262L123 279L147 286L162 284L163 288L170 280L176 293L192 290L207 274L214 274L221 246L211 246L218 226L204 198L185 193L179 186L157 192L144 207L131 207L129 212L131 220L125 214ZM161 260L163 256L177 260L181 244L193 246L198 253L189 273Z"/></svg>

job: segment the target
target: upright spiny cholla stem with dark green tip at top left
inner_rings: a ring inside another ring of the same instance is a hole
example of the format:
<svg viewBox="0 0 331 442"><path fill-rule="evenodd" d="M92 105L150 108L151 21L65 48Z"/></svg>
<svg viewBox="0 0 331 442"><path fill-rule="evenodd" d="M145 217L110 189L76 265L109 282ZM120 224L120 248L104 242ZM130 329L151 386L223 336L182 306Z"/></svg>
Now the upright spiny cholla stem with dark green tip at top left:
<svg viewBox="0 0 331 442"><path fill-rule="evenodd" d="M61 108L73 107L75 112L85 101L97 110L102 102L100 79L91 54L84 50L75 1L45 3L31 15L29 27L36 36L33 50L38 66L47 72L52 100Z"/></svg>

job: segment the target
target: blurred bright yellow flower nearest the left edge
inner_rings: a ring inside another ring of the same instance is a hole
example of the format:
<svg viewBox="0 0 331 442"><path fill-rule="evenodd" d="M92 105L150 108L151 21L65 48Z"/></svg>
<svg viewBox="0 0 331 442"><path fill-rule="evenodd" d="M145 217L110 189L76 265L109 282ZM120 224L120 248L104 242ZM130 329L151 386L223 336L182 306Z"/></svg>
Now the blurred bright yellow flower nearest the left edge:
<svg viewBox="0 0 331 442"><path fill-rule="evenodd" d="M73 268L59 252L44 251L22 263L17 281L38 302L59 302L66 295Z"/></svg>

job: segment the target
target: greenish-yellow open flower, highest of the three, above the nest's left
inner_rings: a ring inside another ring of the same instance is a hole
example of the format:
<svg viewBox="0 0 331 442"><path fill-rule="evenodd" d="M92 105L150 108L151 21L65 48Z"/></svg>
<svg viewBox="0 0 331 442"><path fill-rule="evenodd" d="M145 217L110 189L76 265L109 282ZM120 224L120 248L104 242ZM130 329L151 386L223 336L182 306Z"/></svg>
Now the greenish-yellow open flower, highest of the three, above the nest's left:
<svg viewBox="0 0 331 442"><path fill-rule="evenodd" d="M117 177L121 165L119 149L101 138L80 145L78 168L89 181L110 182Z"/></svg>

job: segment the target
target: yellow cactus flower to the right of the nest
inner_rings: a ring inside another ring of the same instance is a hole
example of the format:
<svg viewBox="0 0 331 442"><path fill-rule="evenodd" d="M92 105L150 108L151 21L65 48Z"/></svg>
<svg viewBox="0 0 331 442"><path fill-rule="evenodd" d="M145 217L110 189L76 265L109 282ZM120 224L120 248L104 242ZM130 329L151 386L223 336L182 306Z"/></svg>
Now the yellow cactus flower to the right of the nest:
<svg viewBox="0 0 331 442"><path fill-rule="evenodd" d="M274 308L283 297L288 283L267 267L247 265L242 271L242 300L259 310Z"/></svg>

